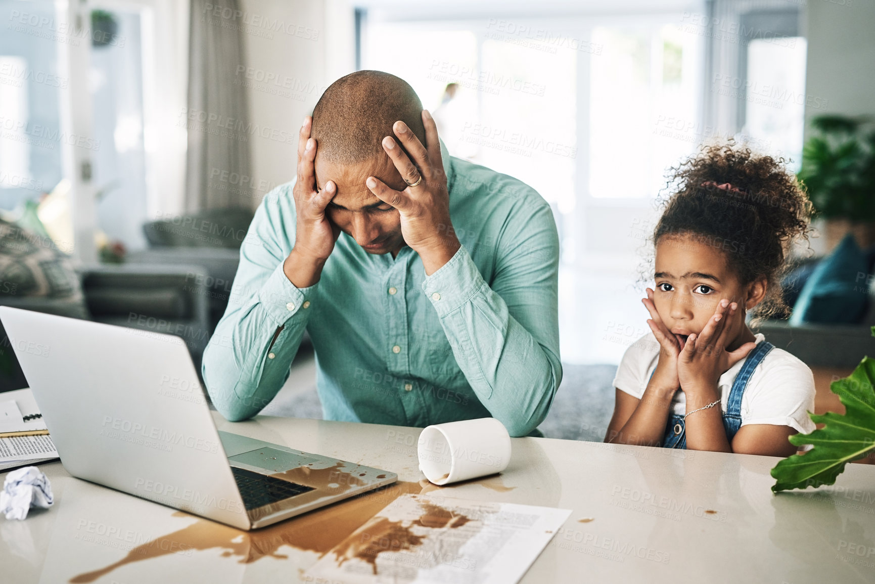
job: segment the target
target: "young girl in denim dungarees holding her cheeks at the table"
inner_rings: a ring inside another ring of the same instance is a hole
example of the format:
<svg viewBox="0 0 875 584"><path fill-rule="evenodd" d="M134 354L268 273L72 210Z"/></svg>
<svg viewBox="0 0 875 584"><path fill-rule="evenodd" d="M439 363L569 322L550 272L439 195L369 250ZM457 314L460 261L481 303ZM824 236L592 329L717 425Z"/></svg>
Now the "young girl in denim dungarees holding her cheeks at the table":
<svg viewBox="0 0 875 584"><path fill-rule="evenodd" d="M786 313L778 277L811 203L783 160L734 144L672 169L654 232L652 334L623 355L606 442L788 456L815 429L811 370L753 334L746 313Z"/></svg>

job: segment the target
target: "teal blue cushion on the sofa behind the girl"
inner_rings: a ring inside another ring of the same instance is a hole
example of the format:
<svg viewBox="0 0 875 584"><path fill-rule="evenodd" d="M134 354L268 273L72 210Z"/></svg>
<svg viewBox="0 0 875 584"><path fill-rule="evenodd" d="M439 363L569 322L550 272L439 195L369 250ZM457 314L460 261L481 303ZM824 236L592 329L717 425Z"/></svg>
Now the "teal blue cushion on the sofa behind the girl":
<svg viewBox="0 0 875 584"><path fill-rule="evenodd" d="M844 236L802 286L790 325L859 322L868 303L868 271L868 258L863 250L851 234Z"/></svg>

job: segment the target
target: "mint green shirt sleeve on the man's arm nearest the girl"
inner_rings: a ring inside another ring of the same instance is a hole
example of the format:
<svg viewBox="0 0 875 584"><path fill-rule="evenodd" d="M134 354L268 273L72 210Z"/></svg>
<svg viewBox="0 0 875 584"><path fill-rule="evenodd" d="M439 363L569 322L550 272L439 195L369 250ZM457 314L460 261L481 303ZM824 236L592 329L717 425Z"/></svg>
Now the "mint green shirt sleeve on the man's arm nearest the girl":
<svg viewBox="0 0 875 584"><path fill-rule="evenodd" d="M542 422L562 381L556 222L543 201L527 210L500 238L491 283L463 246L422 286L459 369L512 436Z"/></svg>

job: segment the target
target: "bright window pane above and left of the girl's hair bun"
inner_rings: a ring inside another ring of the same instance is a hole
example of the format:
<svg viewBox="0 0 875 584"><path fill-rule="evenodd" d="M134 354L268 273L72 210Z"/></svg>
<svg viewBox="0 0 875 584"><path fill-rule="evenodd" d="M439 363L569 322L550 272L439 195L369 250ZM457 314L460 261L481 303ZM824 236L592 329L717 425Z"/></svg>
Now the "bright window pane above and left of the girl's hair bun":
<svg viewBox="0 0 875 584"><path fill-rule="evenodd" d="M592 197L653 197L666 169L701 141L699 44L676 25L598 26L591 60Z"/></svg>

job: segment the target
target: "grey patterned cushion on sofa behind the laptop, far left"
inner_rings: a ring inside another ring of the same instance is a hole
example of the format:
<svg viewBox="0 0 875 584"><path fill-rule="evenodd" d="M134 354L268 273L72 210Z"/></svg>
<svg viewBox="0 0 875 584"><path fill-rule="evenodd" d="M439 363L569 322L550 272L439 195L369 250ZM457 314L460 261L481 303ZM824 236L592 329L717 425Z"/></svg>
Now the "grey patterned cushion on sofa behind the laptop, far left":
<svg viewBox="0 0 875 584"><path fill-rule="evenodd" d="M50 301L53 313L89 318L70 257L48 237L0 220L0 304L39 310L37 299Z"/></svg>

